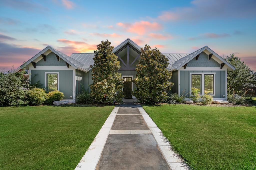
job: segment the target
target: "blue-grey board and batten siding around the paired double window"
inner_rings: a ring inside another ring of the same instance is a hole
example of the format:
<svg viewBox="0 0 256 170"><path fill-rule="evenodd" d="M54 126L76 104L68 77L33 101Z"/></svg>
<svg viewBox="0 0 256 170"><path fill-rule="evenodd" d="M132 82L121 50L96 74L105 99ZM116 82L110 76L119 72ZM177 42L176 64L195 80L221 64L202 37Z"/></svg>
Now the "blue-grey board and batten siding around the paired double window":
<svg viewBox="0 0 256 170"><path fill-rule="evenodd" d="M184 95L187 97L190 96L190 73L215 73L215 85L216 92L213 98L225 98L223 95L226 95L226 73L224 71L182 71L180 70L180 94L185 90Z"/></svg>

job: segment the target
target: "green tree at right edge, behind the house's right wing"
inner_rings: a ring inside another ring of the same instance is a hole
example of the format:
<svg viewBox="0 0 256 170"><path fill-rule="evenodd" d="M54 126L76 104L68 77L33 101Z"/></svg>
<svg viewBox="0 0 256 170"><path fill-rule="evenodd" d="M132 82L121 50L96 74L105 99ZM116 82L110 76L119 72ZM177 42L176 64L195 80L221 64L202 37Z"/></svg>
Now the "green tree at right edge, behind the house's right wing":
<svg viewBox="0 0 256 170"><path fill-rule="evenodd" d="M228 93L239 93L240 87L256 84L256 74L239 57L230 54L225 58L236 69L228 71Z"/></svg>

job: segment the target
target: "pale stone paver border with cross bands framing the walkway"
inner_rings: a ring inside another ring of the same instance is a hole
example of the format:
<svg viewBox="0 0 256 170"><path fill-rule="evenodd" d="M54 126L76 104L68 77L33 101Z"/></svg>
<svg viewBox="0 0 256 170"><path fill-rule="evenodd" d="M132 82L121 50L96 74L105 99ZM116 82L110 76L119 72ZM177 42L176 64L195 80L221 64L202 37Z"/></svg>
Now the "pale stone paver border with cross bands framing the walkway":
<svg viewBox="0 0 256 170"><path fill-rule="evenodd" d="M101 153L105 146L106 140L109 134L153 134L157 145L159 146L161 152L163 153L166 161L169 166L173 170L186 170L187 166L184 164L184 161L181 160L177 154L175 154L171 148L169 142L166 142L166 138L163 136L162 131L157 127L157 125L153 122L150 116L146 113L146 111L142 108L141 105L137 105L140 114L125 114L125 115L142 115L145 120L147 126L150 130L111 130L113 122L115 120L116 115L124 115L117 114L119 107L115 107L110 113L108 119L105 121L104 125L101 127L99 133L94 138L90 147L78 163L75 170L94 170L97 166L97 163L100 159Z"/></svg>

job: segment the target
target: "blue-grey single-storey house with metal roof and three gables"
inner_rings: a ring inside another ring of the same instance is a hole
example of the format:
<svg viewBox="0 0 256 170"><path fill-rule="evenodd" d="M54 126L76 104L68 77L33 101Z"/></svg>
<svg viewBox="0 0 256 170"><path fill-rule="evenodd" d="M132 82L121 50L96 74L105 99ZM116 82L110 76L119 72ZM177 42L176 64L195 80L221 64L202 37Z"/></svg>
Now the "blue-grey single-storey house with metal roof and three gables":
<svg viewBox="0 0 256 170"><path fill-rule="evenodd" d="M140 60L140 46L127 38L113 49L120 60L124 80L125 98L134 98L131 94L135 87L132 80L136 77L136 64ZM227 98L227 71L235 68L209 47L202 47L191 54L164 54L168 60L168 71L173 73L170 81L174 82L173 93L189 97L191 87L209 91L216 100ZM32 84L39 83L47 91L59 90L64 93L64 100L74 102L75 96L82 89L90 91L92 83L93 53L73 53L67 56L47 46L22 66L30 73Z"/></svg>

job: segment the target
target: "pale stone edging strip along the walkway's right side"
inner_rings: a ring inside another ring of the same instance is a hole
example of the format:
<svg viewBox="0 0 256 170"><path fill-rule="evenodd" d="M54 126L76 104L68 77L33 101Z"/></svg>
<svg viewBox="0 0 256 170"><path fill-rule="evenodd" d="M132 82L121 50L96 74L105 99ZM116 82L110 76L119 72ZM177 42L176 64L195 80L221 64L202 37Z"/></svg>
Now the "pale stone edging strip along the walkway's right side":
<svg viewBox="0 0 256 170"><path fill-rule="evenodd" d="M157 127L157 125L153 122L153 120L150 118L150 116L147 114L147 112L142 108L142 106L137 105L141 115L143 116L145 122L147 123L147 126L151 130L157 145L159 146L161 152L163 153L166 161L170 165L171 169L173 170L186 170L188 169L188 166L184 163L184 160L180 159L180 157L174 153L171 148L169 142L164 136L162 131Z"/></svg>

